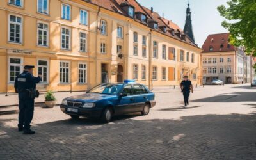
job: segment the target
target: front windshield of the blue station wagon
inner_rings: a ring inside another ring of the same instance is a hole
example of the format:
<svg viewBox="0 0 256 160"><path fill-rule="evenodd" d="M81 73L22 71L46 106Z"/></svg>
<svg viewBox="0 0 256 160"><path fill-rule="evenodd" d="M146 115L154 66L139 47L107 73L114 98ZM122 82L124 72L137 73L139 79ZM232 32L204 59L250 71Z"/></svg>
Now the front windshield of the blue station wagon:
<svg viewBox="0 0 256 160"><path fill-rule="evenodd" d="M106 95L116 95L122 88L123 84L99 84L89 90L87 93L100 93Z"/></svg>

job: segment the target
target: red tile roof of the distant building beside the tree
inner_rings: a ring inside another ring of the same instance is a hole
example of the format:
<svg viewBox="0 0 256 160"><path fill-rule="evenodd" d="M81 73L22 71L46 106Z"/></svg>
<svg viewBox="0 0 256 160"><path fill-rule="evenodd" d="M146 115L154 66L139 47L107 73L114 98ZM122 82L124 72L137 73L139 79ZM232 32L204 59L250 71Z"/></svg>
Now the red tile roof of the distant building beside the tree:
<svg viewBox="0 0 256 160"><path fill-rule="evenodd" d="M208 35L202 46L203 52L236 51L236 48L229 44L229 35L230 33ZM210 51L210 47L213 47L212 51Z"/></svg>

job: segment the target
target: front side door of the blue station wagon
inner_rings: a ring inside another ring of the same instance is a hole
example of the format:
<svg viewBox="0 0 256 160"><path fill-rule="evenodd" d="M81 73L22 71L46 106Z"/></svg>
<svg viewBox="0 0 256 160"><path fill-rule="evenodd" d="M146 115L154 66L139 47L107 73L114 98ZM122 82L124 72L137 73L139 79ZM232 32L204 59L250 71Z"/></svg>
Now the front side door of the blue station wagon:
<svg viewBox="0 0 256 160"><path fill-rule="evenodd" d="M134 95L132 95L132 85L127 84L124 86L122 94L125 96L118 97L117 105L115 106L116 115L131 113L134 106Z"/></svg>

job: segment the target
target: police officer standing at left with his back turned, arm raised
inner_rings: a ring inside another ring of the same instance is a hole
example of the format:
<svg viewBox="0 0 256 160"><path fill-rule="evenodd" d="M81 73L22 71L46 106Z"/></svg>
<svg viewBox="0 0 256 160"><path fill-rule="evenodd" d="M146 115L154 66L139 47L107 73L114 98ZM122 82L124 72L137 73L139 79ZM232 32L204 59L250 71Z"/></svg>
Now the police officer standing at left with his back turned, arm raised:
<svg viewBox="0 0 256 160"><path fill-rule="evenodd" d="M42 76L33 76L33 65L25 65L24 72L15 78L15 91L19 93L19 131L24 134L35 134L30 129L30 122L34 113L34 99L36 83L39 83Z"/></svg>

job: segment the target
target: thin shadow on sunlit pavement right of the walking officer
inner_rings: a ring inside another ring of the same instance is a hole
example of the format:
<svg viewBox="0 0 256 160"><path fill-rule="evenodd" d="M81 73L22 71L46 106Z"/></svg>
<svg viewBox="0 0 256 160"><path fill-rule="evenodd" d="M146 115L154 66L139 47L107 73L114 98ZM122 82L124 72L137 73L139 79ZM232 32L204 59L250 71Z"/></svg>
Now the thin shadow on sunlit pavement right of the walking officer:
<svg viewBox="0 0 256 160"><path fill-rule="evenodd" d="M255 102L255 92L232 92L220 94L203 99L192 100L192 102Z"/></svg>

